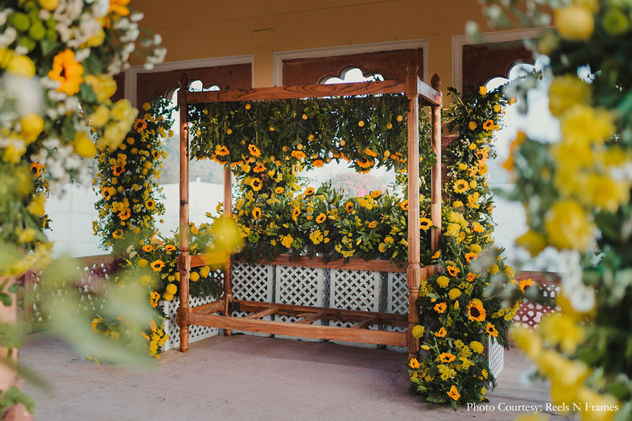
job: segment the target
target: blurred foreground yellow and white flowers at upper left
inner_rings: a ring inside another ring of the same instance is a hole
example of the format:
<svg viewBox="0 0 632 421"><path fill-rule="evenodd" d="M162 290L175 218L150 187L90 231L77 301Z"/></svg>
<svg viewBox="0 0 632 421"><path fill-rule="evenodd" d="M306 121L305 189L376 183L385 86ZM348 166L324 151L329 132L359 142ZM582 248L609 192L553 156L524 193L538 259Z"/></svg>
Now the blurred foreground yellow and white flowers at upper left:
<svg viewBox="0 0 632 421"><path fill-rule="evenodd" d="M41 212L46 196L34 189L32 165L49 181L68 181L77 173L78 157L97 152L90 125L101 133L99 149L115 149L136 110L129 101L110 100L116 90L112 74L128 66L132 52L149 63L164 57L159 37L144 30L141 36L143 16L127 3L3 2L0 174L7 188L0 194L0 243L8 255L3 274L21 274L48 261ZM34 253L23 253L32 247Z"/></svg>

